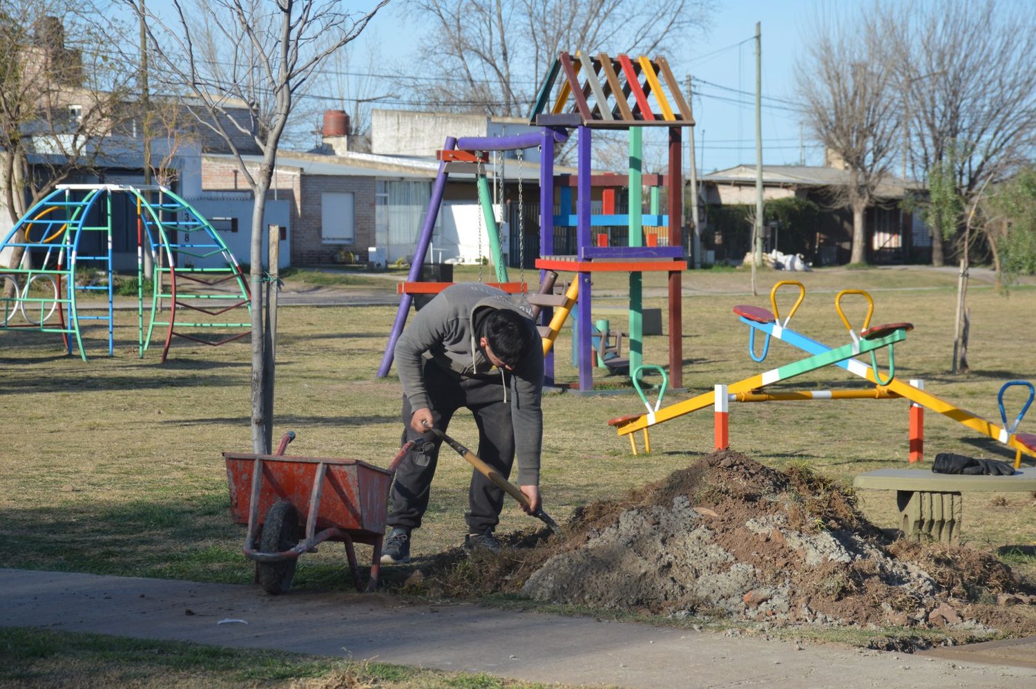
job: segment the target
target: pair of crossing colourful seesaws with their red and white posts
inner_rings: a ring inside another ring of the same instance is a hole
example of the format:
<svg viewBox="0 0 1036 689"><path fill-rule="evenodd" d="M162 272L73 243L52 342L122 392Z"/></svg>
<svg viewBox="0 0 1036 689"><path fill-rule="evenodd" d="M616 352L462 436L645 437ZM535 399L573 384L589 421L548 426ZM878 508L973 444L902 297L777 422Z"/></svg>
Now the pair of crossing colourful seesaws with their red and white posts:
<svg viewBox="0 0 1036 689"><path fill-rule="evenodd" d="M787 316L781 320L777 309L777 292L784 286L798 287L799 296ZM924 408L931 409L949 417L950 419L953 419L954 421L963 424L965 426L976 430L983 435L1012 448L1015 451L1015 467L1020 465L1023 454L1027 454L1030 457L1036 457L1036 434L1015 432L1018 425L1021 423L1026 411L1028 411L1030 405L1032 404L1033 398L1036 397L1036 389L1033 387L1032 383L1021 380L1012 380L1006 382L1001 387L998 396L998 404L1000 406L1003 427L999 427L982 419L978 414L961 409L945 400L926 393L924 391L924 385L920 380L903 382L895 378L895 360L893 355L893 348L891 346L892 341L888 342L889 370L887 375L882 374L876 363L875 352L884 345L877 343L885 340L891 340L892 336L896 333L901 334L904 337L905 332L911 329L913 326L910 323L888 323L872 327L869 326L870 318L873 315L873 299L863 290L842 290L835 296L835 308L852 339L852 342L847 345L832 349L831 347L823 345L787 327L787 324L795 315L796 310L805 298L805 294L806 289L802 283L795 281L782 281L774 285L770 292L770 303L773 308L772 312L752 306L737 306L733 308L733 312L740 317L741 321L747 324L750 328L748 349L753 361L762 362L766 358L772 338L786 342L804 350L810 354L808 358L795 364L788 364L784 367L774 369L773 371L752 376L728 385L716 385L716 389L713 392L698 395L690 400L678 402L654 412L650 411L644 414L632 414L622 417L620 419L613 419L608 422L609 425L616 427L618 435L630 435L630 442L633 447L634 454L636 454L637 450L632 433L642 430L644 432L645 451L650 452L648 429L651 426L686 413L691 413L708 406L713 406L716 414L716 447L723 448L728 444L728 432L726 425L728 402L904 398L911 402L911 461L919 461L923 457ZM852 324L848 322L841 306L842 298L847 295L862 296L867 303L867 313L859 335L857 335ZM755 353L756 331L765 336L761 354ZM851 349L848 355L844 355L846 348ZM855 351L852 351L854 349ZM855 355L866 352L870 353L870 365L854 358ZM826 363L821 364L822 361L826 361ZM779 380L786 380L795 375L805 373L807 370L814 370L815 368L819 368L819 366L827 366L830 364L834 364L835 366L850 371L854 375L864 378L868 382L872 383L873 386L865 390L845 391L804 391L781 393L768 393L762 391L762 387L768 384ZM1004 408L1004 394L1012 386L1028 387L1029 397L1014 421L1008 424L1007 412Z"/></svg>

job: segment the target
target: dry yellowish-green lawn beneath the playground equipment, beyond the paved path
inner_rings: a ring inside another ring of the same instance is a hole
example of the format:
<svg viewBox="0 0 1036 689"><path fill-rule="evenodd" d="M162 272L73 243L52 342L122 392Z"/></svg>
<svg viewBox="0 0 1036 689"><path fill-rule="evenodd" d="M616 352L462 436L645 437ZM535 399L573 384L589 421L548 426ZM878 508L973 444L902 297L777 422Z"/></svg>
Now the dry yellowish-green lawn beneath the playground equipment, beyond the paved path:
<svg viewBox="0 0 1036 689"><path fill-rule="evenodd" d="M512 279L518 278L514 270ZM478 268L458 268L458 279ZM348 276L352 278L353 276ZM760 274L760 292L785 274ZM911 321L916 329L896 347L896 374L922 378L926 390L999 423L997 392L1003 382L1036 371L1036 288L998 293L976 277L969 293L971 372L953 376L951 363L956 275L930 269L822 269L792 276L807 288L792 326L831 346L848 341L833 308L841 288L872 290L874 322ZM289 281L292 278L289 277ZM356 279L359 279L357 276ZM536 271L526 271L527 280ZM391 282L376 278L392 290ZM644 279L645 307L665 314L664 280ZM595 277L602 295L621 294L624 275ZM366 286L366 283L365 283ZM342 285L348 289L349 285ZM748 276L732 270L684 274L684 382L687 393L666 402L732 382L764 369L804 358L774 342L765 364L747 355L747 328L730 309L768 305L752 297ZM788 292L788 300L790 292ZM605 296L615 306L620 296ZM789 303L789 302L788 302ZM788 303L785 303L788 304ZM846 299L850 317L862 320L862 302ZM786 309L786 306L784 306ZM294 430L291 453L354 457L387 465L399 447L399 381L375 379L393 307L285 308L280 314L275 433ZM625 327L624 319L614 327ZM87 328L91 355L84 364L63 354L60 341L36 333L0 332L0 405L5 439L0 450L0 566L100 574L172 577L249 583L242 555L243 527L231 523L222 451L248 452L249 345L219 348L177 341L165 365L157 352L136 356L136 312L117 315L116 354L103 355L104 333ZM663 318L663 329L667 322ZM857 325L859 327L859 325ZM667 361L667 338L650 337L645 361ZM574 380L568 333L557 342L557 375ZM885 354L880 361L886 361ZM632 456L627 438L608 419L636 412L636 395L615 378L615 394L551 395L544 399L543 492L558 521L576 506L615 496L686 466L712 450L708 410L652 431L652 455ZM787 389L858 386L840 369L803 376ZM1008 400L1011 418L1021 392ZM1036 428L1036 417L1021 430ZM731 448L772 466L805 460L841 480L860 471L905 466L908 404L857 400L740 404L731 406ZM469 415L459 414L451 434L476 444ZM937 452L1013 458L992 440L928 412L925 448ZM462 541L470 468L452 452L442 455L424 527L414 535L416 555ZM1029 494L969 495L967 544L999 553L1016 570L1036 576L1036 524ZM893 496L865 492L865 513L882 526L895 524ZM539 522L515 507L505 509L500 530ZM370 549L359 546L361 562ZM299 561L296 586L347 590L340 547L321 548Z"/></svg>

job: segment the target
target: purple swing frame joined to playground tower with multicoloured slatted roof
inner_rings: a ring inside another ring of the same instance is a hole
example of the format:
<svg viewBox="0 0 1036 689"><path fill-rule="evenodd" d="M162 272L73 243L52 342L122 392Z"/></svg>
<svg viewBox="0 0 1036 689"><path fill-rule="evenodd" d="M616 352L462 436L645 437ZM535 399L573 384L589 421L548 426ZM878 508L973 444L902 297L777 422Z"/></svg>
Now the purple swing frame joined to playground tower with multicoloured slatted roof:
<svg viewBox="0 0 1036 689"><path fill-rule="evenodd" d="M664 84L664 85L663 85ZM668 95L666 94L668 90ZM658 112L656 112L656 110ZM483 209L488 197L488 186L482 175L482 166L488 161L489 151L521 150L539 146L540 162L540 288L536 294L527 293L526 299L540 319L544 349L547 354L545 382L554 383L554 357L551 349L560 327L570 313L577 317L576 337L580 343L578 353L579 377L574 389L589 391L594 386L594 368L598 353L591 346L594 342L593 294L591 279L595 272L617 271L629 274L629 358L628 366L636 371L642 364L642 294L641 275L645 271L663 271L668 275L669 315L669 377L673 386L682 385L682 310L681 271L687 268L681 246L681 141L682 128L692 126L690 108L681 93L665 58L651 60L626 55L615 58L604 53L591 56L560 53L554 60L540 87L529 122L539 133L498 138L448 137L439 154L439 170L432 188L428 212L413 254L407 283L401 287L399 311L385 347L378 377L387 375L392 367L393 350L403 332L412 300L418 290L438 290L442 286L421 288L416 280L428 251L441 206L443 189L451 172L468 172L477 175ZM668 127L668 172L642 173L642 127ZM629 170L622 174L594 174L592 172L592 139L594 130L620 128L629 131ZM555 144L564 143L572 133L577 137L577 173L554 174ZM643 186L651 188L650 212L642 208ZM661 189L668 197L666 213L660 212ZM600 191L603 213L591 212L592 196ZM629 212L618 212L618 196L626 190ZM556 213L554 207L558 208ZM634 210L637 209L637 210ZM493 245L492 212L484 212L490 235L497 280L513 293L527 292L522 283L508 283L506 268L499 255L498 243ZM575 230L575 254L557 255L554 252L554 230ZM608 228L625 228L627 246L609 246ZM645 229L646 228L646 229ZM651 230L650 228L656 228ZM594 230L599 230L596 235ZM565 294L553 294L557 274L574 274ZM409 285L409 286L408 286ZM549 285L549 286L548 286ZM626 364L626 362L624 362Z"/></svg>

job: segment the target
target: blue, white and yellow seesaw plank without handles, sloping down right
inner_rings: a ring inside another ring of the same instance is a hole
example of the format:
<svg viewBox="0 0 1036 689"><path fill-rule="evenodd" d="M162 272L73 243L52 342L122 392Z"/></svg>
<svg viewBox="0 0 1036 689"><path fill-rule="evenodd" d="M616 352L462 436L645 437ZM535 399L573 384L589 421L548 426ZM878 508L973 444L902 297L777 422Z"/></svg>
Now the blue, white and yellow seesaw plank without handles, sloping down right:
<svg viewBox="0 0 1036 689"><path fill-rule="evenodd" d="M741 317L741 321L746 323L750 327L756 328L767 335L773 336L774 338L780 340L781 342L786 342L789 345L798 347L810 354L821 354L824 352L834 351L827 345L821 344L815 340L811 340L806 336L797 333L796 331L789 329L787 327L782 327L781 325L770 322L761 323L754 321L744 316ZM840 348L839 348L840 349ZM879 384L874 377L873 369L864 364L863 362L856 358L844 358L835 363L835 366L839 366L850 373L860 376L875 385ZM963 424L965 426L978 431L983 435L987 435L994 440L1003 442L1004 444L1013 448L1016 452L1025 453L1030 457L1036 458L1036 435L1031 433L1011 433L1007 429L997 426L996 424L989 423L985 419L982 419L976 413L968 411L967 409L961 409L949 402L936 397L929 393L919 390L908 382L903 382L898 378L894 378L887 385L882 385L883 387L904 397L916 404L931 409L932 411L938 411L939 413L949 417L953 421ZM731 393L737 391L731 386ZM1017 464L1017 459L1015 459L1015 464Z"/></svg>

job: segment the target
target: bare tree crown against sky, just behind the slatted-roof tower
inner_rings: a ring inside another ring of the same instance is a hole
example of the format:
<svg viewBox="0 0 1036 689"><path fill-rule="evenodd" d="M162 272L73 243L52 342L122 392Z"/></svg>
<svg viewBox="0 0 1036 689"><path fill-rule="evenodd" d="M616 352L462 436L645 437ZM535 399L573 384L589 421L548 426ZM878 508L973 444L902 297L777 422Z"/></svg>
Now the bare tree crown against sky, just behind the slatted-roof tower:
<svg viewBox="0 0 1036 689"><path fill-rule="evenodd" d="M560 51L664 53L708 27L712 0L407 0L429 25L434 80L405 83L429 106L524 117ZM420 13L419 13L420 12ZM427 77L427 73L422 74Z"/></svg>

